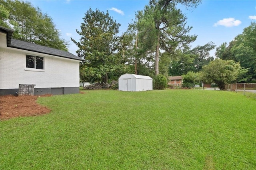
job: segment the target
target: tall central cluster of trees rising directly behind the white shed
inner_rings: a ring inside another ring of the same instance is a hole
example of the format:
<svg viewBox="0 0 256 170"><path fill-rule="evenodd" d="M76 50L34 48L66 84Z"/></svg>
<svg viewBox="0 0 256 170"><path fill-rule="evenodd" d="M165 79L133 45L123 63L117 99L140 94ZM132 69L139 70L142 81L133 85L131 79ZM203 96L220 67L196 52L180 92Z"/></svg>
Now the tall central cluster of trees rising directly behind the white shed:
<svg viewBox="0 0 256 170"><path fill-rule="evenodd" d="M80 65L82 81L107 84L123 73L168 76L170 61L186 50L196 35L189 35L186 16L177 8L183 4L195 8L201 0L150 0L137 11L124 34L118 36L120 24L108 13L89 9L76 32L80 41L76 51L84 58Z"/></svg>

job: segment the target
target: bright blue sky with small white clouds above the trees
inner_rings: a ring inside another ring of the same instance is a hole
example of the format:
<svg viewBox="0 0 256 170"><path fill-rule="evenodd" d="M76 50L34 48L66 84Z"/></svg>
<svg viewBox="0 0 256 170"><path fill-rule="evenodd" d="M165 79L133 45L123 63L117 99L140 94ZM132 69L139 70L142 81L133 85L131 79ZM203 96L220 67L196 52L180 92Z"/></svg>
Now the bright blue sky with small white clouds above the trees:
<svg viewBox="0 0 256 170"><path fill-rule="evenodd" d="M76 54L78 47L70 40L79 41L84 14L92 8L106 13L121 24L120 33L126 31L128 24L135 18L135 12L143 10L148 0L29 0L38 6L42 12L52 17L62 38L70 42L69 51ZM230 42L251 22L256 22L256 0L202 0L195 9L180 6L186 15L187 25L192 26L191 35L197 35L197 40L191 44L204 45L214 42L219 46ZM211 51L214 56L215 49Z"/></svg>

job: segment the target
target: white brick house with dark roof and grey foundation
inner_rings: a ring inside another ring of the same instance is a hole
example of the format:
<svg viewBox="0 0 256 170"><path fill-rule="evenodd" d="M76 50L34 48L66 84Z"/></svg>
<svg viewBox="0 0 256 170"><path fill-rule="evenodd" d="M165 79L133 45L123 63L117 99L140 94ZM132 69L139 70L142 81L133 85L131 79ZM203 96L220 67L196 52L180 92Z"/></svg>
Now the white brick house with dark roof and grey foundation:
<svg viewBox="0 0 256 170"><path fill-rule="evenodd" d="M0 26L0 95L16 93L19 84L34 84L34 95L79 93L79 63L84 59L12 39L12 33Z"/></svg>

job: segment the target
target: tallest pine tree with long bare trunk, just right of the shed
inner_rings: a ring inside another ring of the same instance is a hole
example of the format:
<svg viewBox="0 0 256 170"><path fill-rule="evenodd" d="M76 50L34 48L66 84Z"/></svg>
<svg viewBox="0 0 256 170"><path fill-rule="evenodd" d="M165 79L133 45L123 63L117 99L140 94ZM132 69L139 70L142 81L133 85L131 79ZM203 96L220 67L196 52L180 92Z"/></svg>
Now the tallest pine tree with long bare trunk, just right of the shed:
<svg viewBox="0 0 256 170"><path fill-rule="evenodd" d="M160 50L174 53L175 49L196 40L196 36L188 35L192 27L186 26L187 18L176 8L176 4L191 7L197 6L200 2L201 0L150 0L149 5L145 6L144 17L141 20L154 25L152 32L155 35L152 38L155 40L156 75L159 73Z"/></svg>

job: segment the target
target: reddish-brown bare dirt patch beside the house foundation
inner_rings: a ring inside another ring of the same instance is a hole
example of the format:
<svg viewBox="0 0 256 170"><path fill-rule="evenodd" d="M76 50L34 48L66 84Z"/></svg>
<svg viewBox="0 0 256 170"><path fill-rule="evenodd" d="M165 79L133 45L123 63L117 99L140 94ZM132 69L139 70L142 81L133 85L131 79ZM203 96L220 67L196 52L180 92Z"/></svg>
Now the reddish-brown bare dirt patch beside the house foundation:
<svg viewBox="0 0 256 170"><path fill-rule="evenodd" d="M52 95L43 95L47 97ZM0 119L36 116L50 113L50 109L36 103L39 96L0 96Z"/></svg>

